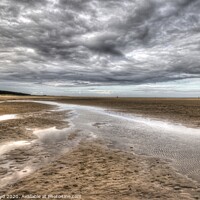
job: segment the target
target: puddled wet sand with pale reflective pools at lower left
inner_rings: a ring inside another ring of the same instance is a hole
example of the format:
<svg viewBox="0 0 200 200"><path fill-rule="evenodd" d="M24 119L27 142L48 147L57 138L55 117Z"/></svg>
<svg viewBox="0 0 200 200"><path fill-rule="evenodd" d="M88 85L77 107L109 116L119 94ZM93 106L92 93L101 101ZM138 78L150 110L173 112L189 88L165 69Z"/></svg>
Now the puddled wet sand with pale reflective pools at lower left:
<svg viewBox="0 0 200 200"><path fill-rule="evenodd" d="M70 129L55 127L33 131L37 139L0 144L0 189L13 184L78 144L68 140Z"/></svg>

